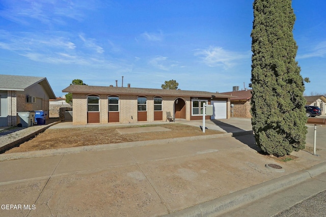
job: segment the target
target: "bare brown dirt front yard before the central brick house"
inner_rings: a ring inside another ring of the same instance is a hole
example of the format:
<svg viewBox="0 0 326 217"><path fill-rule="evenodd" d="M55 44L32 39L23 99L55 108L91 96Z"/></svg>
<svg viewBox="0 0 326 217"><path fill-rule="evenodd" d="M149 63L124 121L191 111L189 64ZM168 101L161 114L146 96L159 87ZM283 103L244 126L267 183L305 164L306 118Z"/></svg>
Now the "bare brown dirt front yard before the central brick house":
<svg viewBox="0 0 326 217"><path fill-rule="evenodd" d="M171 131L144 132L133 134L120 134L116 129L121 128L146 128L162 127ZM14 147L5 153L67 148L86 145L111 144L132 141L146 141L177 137L201 136L223 133L216 130L206 130L205 134L199 127L182 125L179 123L141 126L119 127L94 127L94 128L66 128L47 129L30 141L24 142L19 147Z"/></svg>

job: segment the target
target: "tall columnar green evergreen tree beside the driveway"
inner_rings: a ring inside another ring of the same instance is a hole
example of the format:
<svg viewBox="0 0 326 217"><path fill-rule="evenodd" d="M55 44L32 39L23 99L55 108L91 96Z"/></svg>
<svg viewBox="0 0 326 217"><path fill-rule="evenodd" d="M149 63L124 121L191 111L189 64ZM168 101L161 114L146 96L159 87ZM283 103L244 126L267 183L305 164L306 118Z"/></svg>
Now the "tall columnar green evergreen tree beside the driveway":
<svg viewBox="0 0 326 217"><path fill-rule="evenodd" d="M305 147L304 80L295 61L291 0L255 0L252 37L252 125L256 143L274 156Z"/></svg>

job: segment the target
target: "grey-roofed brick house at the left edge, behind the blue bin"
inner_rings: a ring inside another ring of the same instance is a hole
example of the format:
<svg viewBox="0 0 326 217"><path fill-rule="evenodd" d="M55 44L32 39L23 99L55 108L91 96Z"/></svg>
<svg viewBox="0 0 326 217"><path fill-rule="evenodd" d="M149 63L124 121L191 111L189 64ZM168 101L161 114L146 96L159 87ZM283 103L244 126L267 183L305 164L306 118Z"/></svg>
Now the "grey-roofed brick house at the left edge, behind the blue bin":
<svg viewBox="0 0 326 217"><path fill-rule="evenodd" d="M47 113L49 99L56 96L44 77L0 75L0 126L16 126L17 112L44 110Z"/></svg>

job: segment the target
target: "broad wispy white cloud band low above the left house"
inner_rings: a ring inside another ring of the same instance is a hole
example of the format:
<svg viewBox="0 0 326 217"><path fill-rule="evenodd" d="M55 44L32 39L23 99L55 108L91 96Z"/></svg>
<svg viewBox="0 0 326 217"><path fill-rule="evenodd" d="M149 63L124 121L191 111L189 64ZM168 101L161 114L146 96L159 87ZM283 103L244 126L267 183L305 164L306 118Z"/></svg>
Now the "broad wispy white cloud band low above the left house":
<svg viewBox="0 0 326 217"><path fill-rule="evenodd" d="M9 50L39 63L122 70L130 67L124 60L113 60L104 56L103 48L96 45L93 39L87 39L82 35L70 38L69 34L68 36L63 32L60 34L50 36L0 30L0 49Z"/></svg>

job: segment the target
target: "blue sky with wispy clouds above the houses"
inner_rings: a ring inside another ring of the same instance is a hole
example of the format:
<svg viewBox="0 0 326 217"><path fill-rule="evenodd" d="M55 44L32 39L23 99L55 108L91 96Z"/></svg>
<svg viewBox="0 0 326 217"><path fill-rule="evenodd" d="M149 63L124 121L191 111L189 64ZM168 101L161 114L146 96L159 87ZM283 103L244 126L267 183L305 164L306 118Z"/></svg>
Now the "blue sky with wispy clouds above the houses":
<svg viewBox="0 0 326 217"><path fill-rule="evenodd" d="M232 91L251 78L253 1L1 0L0 74L86 84ZM305 95L325 94L326 1L294 0Z"/></svg>

